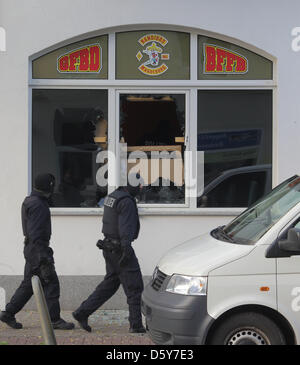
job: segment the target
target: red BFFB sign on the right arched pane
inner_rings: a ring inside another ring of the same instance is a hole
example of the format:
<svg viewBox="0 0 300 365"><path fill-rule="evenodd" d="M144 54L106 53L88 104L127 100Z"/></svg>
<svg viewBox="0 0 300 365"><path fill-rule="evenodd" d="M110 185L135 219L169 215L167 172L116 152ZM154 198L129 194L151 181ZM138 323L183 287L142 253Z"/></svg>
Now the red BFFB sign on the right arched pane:
<svg viewBox="0 0 300 365"><path fill-rule="evenodd" d="M204 73L241 74L248 72L246 57L226 48L204 44Z"/></svg>

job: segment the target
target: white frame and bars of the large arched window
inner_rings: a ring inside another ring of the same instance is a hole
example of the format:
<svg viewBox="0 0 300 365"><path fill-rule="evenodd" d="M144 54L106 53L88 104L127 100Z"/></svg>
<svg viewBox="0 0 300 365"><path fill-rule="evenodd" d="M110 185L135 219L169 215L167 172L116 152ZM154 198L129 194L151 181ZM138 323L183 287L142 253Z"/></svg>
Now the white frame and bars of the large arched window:
<svg viewBox="0 0 300 365"><path fill-rule="evenodd" d="M28 85L28 193L31 191L32 180L32 90L33 89L106 89L108 90L108 151L116 153L119 137L119 117L117 115L117 98L120 92L130 93L185 93L186 97L186 136L190 151L197 151L197 95L198 90L262 90L272 91L272 187L278 182L278 141L277 141L277 61L276 58L265 51L246 44L240 40L232 39L213 32L200 29L164 25L160 30L172 30L190 33L190 79L189 80L117 80L115 79L115 38L116 33L128 30L149 30L152 25L136 25L128 27L116 27L109 30L91 32L88 36L81 35L73 39L65 40L59 45L49 47L47 50L38 52L29 57L29 85ZM58 47L70 43L108 34L108 79L106 80L72 80L72 79L33 79L32 61ZM273 62L272 80L197 80L198 75L198 35L217 38L232 42L250 51L256 52ZM111 160L109 158L109 171ZM111 174L110 174L111 175ZM185 178L192 178L190 165L185 165ZM109 177L109 193L115 188L112 177ZM175 209L174 209L175 208ZM197 198L186 195L186 204L142 204L142 215L204 215L204 216L234 216L241 213L245 208L197 208ZM99 215L103 208L51 208L53 215Z"/></svg>

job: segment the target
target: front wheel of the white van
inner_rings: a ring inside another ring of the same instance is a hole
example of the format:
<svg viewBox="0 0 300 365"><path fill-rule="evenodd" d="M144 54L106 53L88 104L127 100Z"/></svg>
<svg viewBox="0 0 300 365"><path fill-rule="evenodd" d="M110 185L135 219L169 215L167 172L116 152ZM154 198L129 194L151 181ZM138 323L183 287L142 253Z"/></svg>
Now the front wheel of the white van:
<svg viewBox="0 0 300 365"><path fill-rule="evenodd" d="M254 312L227 318L213 332L210 345L285 345L279 327L268 317Z"/></svg>

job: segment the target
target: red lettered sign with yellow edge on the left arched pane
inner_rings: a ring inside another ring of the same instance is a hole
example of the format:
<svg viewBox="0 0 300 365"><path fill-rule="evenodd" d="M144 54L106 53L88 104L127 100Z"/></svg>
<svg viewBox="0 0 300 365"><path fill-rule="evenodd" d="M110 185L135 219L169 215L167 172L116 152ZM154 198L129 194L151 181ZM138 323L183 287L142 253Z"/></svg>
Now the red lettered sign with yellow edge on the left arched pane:
<svg viewBox="0 0 300 365"><path fill-rule="evenodd" d="M73 50L57 59L59 72L99 72L101 64L101 47L98 44Z"/></svg>

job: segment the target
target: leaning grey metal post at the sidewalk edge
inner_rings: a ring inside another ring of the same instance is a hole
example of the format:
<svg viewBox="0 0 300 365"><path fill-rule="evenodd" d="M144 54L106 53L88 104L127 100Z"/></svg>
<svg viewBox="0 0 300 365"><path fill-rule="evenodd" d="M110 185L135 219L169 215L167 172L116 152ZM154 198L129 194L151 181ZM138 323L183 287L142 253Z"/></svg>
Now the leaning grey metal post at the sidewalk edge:
<svg viewBox="0 0 300 365"><path fill-rule="evenodd" d="M32 289L38 308L38 312L41 320L41 327L43 332L43 337L46 345L56 345L56 338L53 331L52 323L50 320L50 315L42 288L42 284L38 276L33 276L31 279Z"/></svg>

